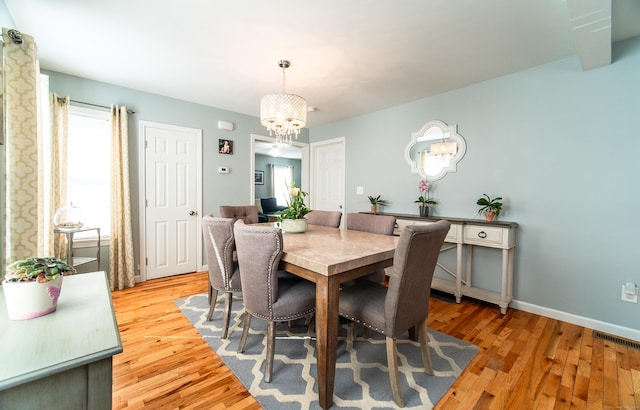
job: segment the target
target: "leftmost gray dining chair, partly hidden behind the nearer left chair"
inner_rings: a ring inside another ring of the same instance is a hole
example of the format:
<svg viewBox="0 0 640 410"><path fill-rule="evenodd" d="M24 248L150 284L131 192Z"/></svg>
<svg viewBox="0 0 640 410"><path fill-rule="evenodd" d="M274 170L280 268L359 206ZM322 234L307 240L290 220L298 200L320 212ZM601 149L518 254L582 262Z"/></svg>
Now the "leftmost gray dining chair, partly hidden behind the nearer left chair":
<svg viewBox="0 0 640 410"><path fill-rule="evenodd" d="M236 249L233 236L233 218L215 218L206 215L202 218L202 235L204 239L207 264L209 265L209 313L210 321L215 310L218 292L224 292L225 303L222 319L222 339L227 338L233 292L241 292L238 263L234 261Z"/></svg>

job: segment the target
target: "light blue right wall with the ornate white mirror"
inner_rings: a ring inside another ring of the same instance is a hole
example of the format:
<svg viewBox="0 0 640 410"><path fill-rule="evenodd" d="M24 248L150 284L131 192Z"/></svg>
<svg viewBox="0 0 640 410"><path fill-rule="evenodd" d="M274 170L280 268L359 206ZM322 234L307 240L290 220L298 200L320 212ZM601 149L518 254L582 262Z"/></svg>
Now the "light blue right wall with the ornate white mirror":
<svg viewBox="0 0 640 410"><path fill-rule="evenodd" d="M313 128L312 142L346 137L347 212L382 194L386 211L417 213L404 149L434 119L467 142L458 172L432 184L436 215L477 218L483 193L505 198L500 218L520 225L515 299L640 329L640 304L620 300L623 283L640 284L640 38L599 69L568 58ZM495 259L474 251L477 284L497 287Z"/></svg>

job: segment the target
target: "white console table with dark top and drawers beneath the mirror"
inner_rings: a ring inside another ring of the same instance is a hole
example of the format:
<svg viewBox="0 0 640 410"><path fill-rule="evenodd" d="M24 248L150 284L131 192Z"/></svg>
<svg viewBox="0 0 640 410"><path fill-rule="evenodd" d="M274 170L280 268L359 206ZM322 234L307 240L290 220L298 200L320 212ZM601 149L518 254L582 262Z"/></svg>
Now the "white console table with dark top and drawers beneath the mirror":
<svg viewBox="0 0 640 410"><path fill-rule="evenodd" d="M485 222L481 219L461 219L446 217L419 217L417 215L390 214L396 217L395 235L400 235L407 225L428 224L446 219L451 222L451 228L445 238L445 246L442 251L456 249L455 271L448 269L443 264L438 266L449 273L455 280L447 280L438 277L433 278L431 287L443 292L455 295L456 302L460 303L462 296L469 296L500 306L500 312L507 313L507 307L513 300L513 262L516 246L515 222ZM453 246L446 244L454 244ZM466 246L466 269L463 275L463 247ZM502 269L500 272L500 292L481 289L472 285L471 262L473 248L475 246L495 248L502 251Z"/></svg>

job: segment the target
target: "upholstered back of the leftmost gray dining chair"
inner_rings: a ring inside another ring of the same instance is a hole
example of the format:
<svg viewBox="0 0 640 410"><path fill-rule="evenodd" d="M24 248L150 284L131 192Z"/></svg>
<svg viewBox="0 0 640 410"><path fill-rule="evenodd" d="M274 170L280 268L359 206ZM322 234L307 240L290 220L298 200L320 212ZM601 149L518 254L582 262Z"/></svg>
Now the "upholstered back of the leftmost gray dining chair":
<svg viewBox="0 0 640 410"><path fill-rule="evenodd" d="M233 252L236 249L233 219L204 216L202 236L211 286L218 290L241 291L238 280L232 280L233 276L238 274L238 264L233 261Z"/></svg>

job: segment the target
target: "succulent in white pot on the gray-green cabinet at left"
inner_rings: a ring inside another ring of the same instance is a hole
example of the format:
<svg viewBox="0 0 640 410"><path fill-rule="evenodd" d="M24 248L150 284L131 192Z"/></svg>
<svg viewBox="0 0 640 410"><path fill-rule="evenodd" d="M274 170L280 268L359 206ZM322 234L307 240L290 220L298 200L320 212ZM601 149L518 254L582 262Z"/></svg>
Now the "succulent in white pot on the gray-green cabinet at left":
<svg viewBox="0 0 640 410"><path fill-rule="evenodd" d="M10 264L2 281L9 319L33 319L54 312L63 275L75 271L73 266L54 257L28 258Z"/></svg>

